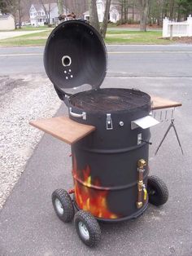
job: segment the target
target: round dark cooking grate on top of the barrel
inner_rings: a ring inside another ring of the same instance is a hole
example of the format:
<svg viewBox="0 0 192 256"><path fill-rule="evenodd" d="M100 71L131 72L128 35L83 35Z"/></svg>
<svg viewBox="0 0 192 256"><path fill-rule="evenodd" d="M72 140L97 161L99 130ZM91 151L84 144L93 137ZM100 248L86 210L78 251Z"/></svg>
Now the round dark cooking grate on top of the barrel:
<svg viewBox="0 0 192 256"><path fill-rule="evenodd" d="M150 96L140 90L104 88L72 95L70 103L84 111L118 111L140 108L149 104Z"/></svg>

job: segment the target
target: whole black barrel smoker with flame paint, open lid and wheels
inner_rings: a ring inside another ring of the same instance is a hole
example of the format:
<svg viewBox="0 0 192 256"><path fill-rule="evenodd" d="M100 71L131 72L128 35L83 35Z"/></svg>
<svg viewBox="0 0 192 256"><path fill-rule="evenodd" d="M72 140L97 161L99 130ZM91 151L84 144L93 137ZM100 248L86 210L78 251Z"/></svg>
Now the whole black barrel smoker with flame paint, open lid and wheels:
<svg viewBox="0 0 192 256"><path fill-rule="evenodd" d="M58 217L65 223L74 218L81 241L94 246L101 239L96 218L136 218L148 201L163 205L168 200L163 181L148 176L150 127L158 122L149 116L151 97L146 93L100 89L107 50L98 31L86 22L68 20L50 33L44 65L73 127L78 123L91 128L89 135L72 143L74 188L56 189L52 202Z"/></svg>

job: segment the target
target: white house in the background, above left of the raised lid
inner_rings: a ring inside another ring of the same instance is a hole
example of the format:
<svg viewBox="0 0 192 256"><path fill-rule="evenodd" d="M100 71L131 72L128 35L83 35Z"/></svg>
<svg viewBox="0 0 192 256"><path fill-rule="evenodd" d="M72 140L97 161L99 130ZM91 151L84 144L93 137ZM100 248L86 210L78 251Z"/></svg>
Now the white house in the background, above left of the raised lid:
<svg viewBox="0 0 192 256"><path fill-rule="evenodd" d="M46 11L41 4L32 4L30 7L30 23L33 24L33 26L38 27L43 26L45 23L55 24L58 22L59 11L57 2L46 3L44 7ZM63 8L63 14L68 14L66 7Z"/></svg>

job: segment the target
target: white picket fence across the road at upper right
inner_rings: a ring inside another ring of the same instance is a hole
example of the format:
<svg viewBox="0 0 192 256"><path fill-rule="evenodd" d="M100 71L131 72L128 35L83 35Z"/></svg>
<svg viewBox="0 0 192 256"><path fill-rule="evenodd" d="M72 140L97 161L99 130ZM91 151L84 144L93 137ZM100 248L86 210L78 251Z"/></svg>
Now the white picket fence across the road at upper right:
<svg viewBox="0 0 192 256"><path fill-rule="evenodd" d="M192 17L182 22L165 18L163 21L163 38L192 37Z"/></svg>

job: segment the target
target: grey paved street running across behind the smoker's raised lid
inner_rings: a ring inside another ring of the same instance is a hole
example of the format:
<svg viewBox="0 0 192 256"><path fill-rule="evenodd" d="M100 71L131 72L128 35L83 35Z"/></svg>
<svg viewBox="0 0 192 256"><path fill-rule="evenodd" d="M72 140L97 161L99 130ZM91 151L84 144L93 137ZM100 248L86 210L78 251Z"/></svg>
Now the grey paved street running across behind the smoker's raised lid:
<svg viewBox="0 0 192 256"><path fill-rule="evenodd" d="M0 75L44 73L43 50L43 47L0 48ZM189 77L191 75L191 45L107 46L107 51L109 55L107 76Z"/></svg>

